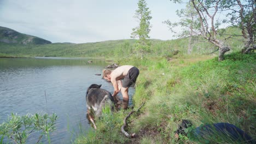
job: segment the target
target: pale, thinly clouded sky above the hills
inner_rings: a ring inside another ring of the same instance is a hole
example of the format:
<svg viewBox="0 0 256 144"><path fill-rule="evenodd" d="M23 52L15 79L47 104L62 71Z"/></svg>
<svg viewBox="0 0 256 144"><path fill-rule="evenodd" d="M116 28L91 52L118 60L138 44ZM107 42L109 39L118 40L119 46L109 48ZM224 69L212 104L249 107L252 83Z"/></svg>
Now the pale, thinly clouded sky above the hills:
<svg viewBox="0 0 256 144"><path fill-rule="evenodd" d="M151 11L152 39L173 39L165 20L176 22L184 5L146 0ZM139 25L138 0L0 0L0 26L52 43L91 43L130 39Z"/></svg>

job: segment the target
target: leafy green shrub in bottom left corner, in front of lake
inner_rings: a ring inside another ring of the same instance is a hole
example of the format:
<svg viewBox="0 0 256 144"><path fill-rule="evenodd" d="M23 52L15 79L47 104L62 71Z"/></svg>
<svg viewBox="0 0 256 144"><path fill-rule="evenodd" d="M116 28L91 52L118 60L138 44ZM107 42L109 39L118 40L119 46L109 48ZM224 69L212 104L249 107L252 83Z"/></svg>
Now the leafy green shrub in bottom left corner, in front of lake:
<svg viewBox="0 0 256 144"><path fill-rule="evenodd" d="M2 140L6 136L15 143L26 143L28 136L34 131L40 131L41 136L38 138L37 143L43 135L48 137L48 142L50 143L49 133L55 131L56 119L57 116L55 113L51 116L47 113L44 115L36 113L34 115L27 114L24 116L11 113L8 121L0 124L0 136L2 136Z"/></svg>

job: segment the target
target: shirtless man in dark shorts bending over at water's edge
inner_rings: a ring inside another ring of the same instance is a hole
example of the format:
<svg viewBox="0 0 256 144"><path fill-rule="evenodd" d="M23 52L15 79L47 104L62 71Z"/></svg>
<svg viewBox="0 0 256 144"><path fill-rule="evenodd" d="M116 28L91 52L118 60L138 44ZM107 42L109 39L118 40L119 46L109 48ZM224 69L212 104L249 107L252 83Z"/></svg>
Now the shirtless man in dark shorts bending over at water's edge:
<svg viewBox="0 0 256 144"><path fill-rule="evenodd" d="M121 91L123 95L123 109L127 109L129 103L128 89L136 82L138 75L138 68L132 65L123 65L114 70L103 70L103 78L111 81L113 84L114 93L112 96L115 100L117 100L116 96ZM121 79L124 79L123 83Z"/></svg>

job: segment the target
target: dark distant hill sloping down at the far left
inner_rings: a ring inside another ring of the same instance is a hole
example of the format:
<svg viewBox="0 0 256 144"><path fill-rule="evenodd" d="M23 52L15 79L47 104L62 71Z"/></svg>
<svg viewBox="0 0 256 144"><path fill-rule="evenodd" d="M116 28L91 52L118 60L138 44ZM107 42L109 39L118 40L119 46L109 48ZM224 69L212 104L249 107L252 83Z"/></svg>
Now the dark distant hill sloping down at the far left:
<svg viewBox="0 0 256 144"><path fill-rule="evenodd" d="M14 31L13 29L0 26L0 42L7 44L35 44L44 45L51 44L51 41L42 38L34 37Z"/></svg>

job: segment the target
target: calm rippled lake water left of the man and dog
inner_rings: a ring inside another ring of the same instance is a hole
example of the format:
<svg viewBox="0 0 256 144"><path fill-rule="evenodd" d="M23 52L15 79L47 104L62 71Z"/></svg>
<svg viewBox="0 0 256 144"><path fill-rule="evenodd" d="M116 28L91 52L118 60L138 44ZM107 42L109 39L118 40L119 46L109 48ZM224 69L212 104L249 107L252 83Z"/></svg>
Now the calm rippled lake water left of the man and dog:
<svg viewBox="0 0 256 144"><path fill-rule="evenodd" d="M102 74L106 65L100 59L0 58L0 123L11 112L56 113L51 143L72 143L81 129L91 129L86 118L86 89L96 83L113 93L112 84L95 75ZM132 93L130 88L129 95ZM34 134L27 143L37 140L38 134ZM48 143L45 137L42 142Z"/></svg>

